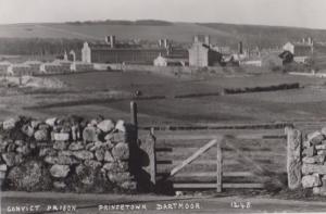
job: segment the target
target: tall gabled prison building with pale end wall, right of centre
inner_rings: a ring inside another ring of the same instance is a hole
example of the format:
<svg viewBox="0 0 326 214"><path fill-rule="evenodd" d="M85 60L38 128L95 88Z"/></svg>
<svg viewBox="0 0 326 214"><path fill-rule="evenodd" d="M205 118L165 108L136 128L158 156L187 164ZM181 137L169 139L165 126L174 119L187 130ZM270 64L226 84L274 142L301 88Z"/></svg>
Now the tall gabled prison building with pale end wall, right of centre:
<svg viewBox="0 0 326 214"><path fill-rule="evenodd" d="M189 49L189 65L196 67L215 66L220 64L222 54L211 48L210 38L205 37L204 41L200 41L199 37L195 37L195 42Z"/></svg>

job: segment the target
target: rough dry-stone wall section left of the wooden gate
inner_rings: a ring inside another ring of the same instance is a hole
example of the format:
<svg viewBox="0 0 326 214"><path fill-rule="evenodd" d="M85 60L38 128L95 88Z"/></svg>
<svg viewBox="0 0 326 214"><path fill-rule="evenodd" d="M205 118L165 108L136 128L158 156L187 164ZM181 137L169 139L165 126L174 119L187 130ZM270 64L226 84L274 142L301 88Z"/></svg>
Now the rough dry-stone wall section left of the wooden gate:
<svg viewBox="0 0 326 214"><path fill-rule="evenodd" d="M134 191L129 171L131 129L102 116L87 121L17 117L0 122L4 190Z"/></svg>

